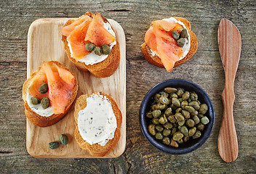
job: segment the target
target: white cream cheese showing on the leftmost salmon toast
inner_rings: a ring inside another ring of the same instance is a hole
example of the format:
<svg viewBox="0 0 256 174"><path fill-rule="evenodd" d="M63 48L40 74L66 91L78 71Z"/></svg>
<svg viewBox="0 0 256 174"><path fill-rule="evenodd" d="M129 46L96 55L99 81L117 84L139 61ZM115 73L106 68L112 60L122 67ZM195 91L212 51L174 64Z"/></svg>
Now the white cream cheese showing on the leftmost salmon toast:
<svg viewBox="0 0 256 174"><path fill-rule="evenodd" d="M54 114L51 106L47 107L47 109L44 109L43 107L41 107L41 104L36 104L36 105L32 104L31 97L32 96L27 92L26 100L28 102L28 106L31 107L31 110L33 112L36 112L36 114L41 115L43 117L49 117Z"/></svg>

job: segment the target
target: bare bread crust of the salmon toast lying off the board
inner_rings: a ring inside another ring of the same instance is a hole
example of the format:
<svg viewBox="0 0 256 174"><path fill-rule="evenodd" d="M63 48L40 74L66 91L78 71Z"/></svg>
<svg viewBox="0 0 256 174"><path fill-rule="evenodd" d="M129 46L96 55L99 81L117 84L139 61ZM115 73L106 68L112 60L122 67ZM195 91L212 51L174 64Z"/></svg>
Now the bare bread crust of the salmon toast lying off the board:
<svg viewBox="0 0 256 174"><path fill-rule="evenodd" d="M191 31L191 23L188 22L188 20L186 20L183 17L175 17L175 19L176 20L180 20L180 22L183 22L183 24L185 25L185 27L188 30L188 33L190 35L190 41L191 41L191 47L190 47L190 49L188 51L188 54L183 59L180 59L179 61L175 62L175 66L174 67L177 67L177 66L182 65L188 59L191 59L193 54L196 53L196 50L197 50L197 48L199 46L199 44L198 44L199 39L196 38L195 33L193 33L193 31ZM155 65L157 67L163 67L164 68L164 65L162 64L161 59L157 55L152 56L151 50L145 44L145 42L141 45L141 51L143 52L143 56L145 57L145 59L149 63L151 63L152 65Z"/></svg>

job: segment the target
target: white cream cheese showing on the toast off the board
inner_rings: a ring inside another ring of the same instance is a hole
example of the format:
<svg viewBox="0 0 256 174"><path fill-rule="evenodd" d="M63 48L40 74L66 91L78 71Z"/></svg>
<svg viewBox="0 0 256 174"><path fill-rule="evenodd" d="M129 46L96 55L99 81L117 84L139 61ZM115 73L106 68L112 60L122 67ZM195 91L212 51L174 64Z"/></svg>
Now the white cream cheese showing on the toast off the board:
<svg viewBox="0 0 256 174"><path fill-rule="evenodd" d="M183 22L180 22L180 20L176 20L175 17L170 17L170 18L163 19L163 20L166 20L166 21L168 21L168 22L175 22L175 23L178 23L178 24L182 25L183 28L187 29L187 28L185 27L184 23L183 23ZM188 31L188 29L187 29L187 31ZM184 51L184 53L183 53L183 56L180 57L179 60L183 59L183 58L188 54L188 51L189 51L189 49L191 48L191 38L190 38L190 37L191 37L191 36L190 36L189 33L188 33L188 39L185 39L185 45L184 45L183 48L182 48L183 51ZM156 56L159 56L159 54L157 54L156 51L153 51L153 50L151 50L151 49L150 49L150 51L151 51L151 56L152 56L152 57L154 57L155 55L156 55Z"/></svg>

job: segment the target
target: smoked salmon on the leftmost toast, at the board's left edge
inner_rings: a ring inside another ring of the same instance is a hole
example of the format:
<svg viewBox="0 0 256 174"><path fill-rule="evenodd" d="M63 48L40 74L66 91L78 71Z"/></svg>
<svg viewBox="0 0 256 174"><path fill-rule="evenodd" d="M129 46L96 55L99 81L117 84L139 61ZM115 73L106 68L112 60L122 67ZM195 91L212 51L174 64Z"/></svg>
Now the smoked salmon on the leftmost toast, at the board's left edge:
<svg viewBox="0 0 256 174"><path fill-rule="evenodd" d="M39 93L39 86L48 84L49 90L46 94ZM71 99L75 77L71 72L58 67L54 62L44 62L41 70L31 81L28 94L39 99L47 97L52 105L55 115L65 112L65 107Z"/></svg>

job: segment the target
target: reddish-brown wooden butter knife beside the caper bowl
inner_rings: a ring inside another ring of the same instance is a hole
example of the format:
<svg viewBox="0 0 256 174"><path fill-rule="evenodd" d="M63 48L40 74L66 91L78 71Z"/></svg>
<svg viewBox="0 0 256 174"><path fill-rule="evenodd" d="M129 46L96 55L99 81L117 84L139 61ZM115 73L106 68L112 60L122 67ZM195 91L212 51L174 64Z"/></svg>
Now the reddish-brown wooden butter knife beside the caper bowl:
<svg viewBox="0 0 256 174"><path fill-rule="evenodd" d="M236 128L233 122L233 101L235 100L233 85L241 54L241 35L230 20L222 19L217 31L217 41L225 72L225 87L221 95L223 121L220 125L217 146L220 157L225 162L233 162L239 153Z"/></svg>

